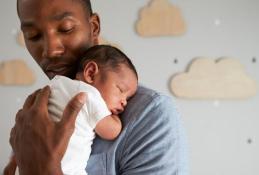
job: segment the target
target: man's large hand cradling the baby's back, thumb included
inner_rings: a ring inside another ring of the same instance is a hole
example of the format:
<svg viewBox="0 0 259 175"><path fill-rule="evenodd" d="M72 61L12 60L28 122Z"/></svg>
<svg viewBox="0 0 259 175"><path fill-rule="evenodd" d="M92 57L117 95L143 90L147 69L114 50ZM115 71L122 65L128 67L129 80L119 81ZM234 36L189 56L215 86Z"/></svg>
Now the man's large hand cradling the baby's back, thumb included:
<svg viewBox="0 0 259 175"><path fill-rule="evenodd" d="M79 93L67 105L60 122L48 114L50 88L31 94L16 114L10 143L20 175L62 174L61 159L74 131L75 120L86 100Z"/></svg>

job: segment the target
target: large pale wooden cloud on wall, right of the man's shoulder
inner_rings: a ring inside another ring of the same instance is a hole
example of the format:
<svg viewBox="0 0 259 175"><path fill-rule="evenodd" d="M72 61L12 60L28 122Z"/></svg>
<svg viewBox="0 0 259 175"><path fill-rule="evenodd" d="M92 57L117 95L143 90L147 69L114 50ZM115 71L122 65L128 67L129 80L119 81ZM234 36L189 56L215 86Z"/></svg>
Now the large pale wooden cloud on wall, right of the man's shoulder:
<svg viewBox="0 0 259 175"><path fill-rule="evenodd" d="M236 59L199 57L187 72L172 78L171 91L186 99L245 99L255 96L257 87Z"/></svg>

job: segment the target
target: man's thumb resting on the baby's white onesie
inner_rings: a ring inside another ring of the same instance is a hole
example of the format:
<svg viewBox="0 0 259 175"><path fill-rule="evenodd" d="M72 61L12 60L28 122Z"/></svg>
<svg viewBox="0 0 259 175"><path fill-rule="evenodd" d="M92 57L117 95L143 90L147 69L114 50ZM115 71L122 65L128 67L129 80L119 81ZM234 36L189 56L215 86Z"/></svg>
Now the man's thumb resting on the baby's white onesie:
<svg viewBox="0 0 259 175"><path fill-rule="evenodd" d="M76 116L85 104L86 101L86 94L83 92L80 92L77 94L72 100L69 101L67 104L62 119L60 121L60 125L63 129L67 130L74 130L75 127L75 120ZM72 134L72 132L71 132Z"/></svg>

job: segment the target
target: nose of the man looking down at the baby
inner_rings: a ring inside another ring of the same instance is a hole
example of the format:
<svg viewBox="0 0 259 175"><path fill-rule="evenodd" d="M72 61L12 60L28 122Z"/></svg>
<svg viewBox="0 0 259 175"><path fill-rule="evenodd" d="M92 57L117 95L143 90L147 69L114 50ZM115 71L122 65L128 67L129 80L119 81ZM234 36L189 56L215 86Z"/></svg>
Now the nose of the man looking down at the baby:
<svg viewBox="0 0 259 175"><path fill-rule="evenodd" d="M43 45L43 58L56 58L64 54L64 45L62 40L55 35L50 35L45 38Z"/></svg>

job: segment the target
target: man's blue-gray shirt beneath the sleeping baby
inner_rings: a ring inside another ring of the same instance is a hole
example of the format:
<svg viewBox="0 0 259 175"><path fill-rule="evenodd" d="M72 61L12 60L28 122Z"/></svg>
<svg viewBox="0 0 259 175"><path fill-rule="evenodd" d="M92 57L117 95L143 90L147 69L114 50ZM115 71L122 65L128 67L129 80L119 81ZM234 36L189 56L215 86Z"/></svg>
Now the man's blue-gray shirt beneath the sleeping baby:
<svg viewBox="0 0 259 175"><path fill-rule="evenodd" d="M114 141L94 140L89 175L188 175L185 135L172 98L139 87Z"/></svg>

